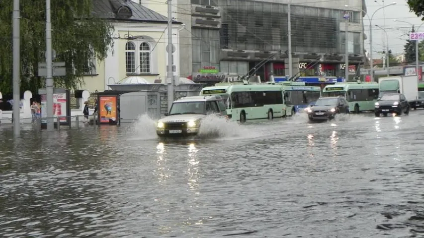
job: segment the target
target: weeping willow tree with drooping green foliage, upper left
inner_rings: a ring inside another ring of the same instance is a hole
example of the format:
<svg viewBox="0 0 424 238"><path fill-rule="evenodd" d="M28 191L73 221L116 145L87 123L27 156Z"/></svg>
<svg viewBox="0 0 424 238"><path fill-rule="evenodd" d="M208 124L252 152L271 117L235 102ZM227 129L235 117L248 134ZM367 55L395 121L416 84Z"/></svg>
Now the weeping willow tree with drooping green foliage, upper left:
<svg viewBox="0 0 424 238"><path fill-rule="evenodd" d="M96 0L52 0L52 47L55 61L66 62L66 76L54 77L56 87L83 85L89 59L104 60L112 47L112 25L93 14ZM12 91L13 0L0 0L0 92ZM46 1L20 0L21 92L37 93L45 78L38 77L38 63L45 62Z"/></svg>

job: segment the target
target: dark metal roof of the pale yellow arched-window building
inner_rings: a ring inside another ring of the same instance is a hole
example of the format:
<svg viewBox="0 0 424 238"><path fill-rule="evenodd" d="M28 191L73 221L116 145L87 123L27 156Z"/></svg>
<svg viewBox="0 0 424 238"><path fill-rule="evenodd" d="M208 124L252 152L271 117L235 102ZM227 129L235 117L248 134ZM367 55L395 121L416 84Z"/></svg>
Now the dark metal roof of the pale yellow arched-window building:
<svg viewBox="0 0 424 238"><path fill-rule="evenodd" d="M168 23L168 18L131 0L93 0L93 14L104 19ZM174 24L181 24L172 21Z"/></svg>

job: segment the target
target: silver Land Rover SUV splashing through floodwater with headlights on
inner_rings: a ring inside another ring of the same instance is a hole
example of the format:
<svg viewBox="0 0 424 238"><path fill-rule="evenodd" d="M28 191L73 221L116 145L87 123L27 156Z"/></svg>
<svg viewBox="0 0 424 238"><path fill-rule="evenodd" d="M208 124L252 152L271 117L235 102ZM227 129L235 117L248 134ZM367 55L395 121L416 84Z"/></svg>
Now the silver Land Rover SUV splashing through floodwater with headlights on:
<svg viewBox="0 0 424 238"><path fill-rule="evenodd" d="M156 124L156 133L165 136L196 135L200 122L206 115L226 117L225 104L221 96L193 96L177 99L170 112Z"/></svg>

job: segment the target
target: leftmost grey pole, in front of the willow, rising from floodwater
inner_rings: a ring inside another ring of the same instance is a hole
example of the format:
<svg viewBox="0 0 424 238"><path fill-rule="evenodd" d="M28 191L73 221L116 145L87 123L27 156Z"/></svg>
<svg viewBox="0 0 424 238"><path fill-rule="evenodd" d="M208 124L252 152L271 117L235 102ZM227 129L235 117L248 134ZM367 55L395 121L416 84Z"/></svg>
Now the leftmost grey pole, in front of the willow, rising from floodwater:
<svg viewBox="0 0 424 238"><path fill-rule="evenodd" d="M20 13L19 0L13 0L13 134L20 134Z"/></svg>

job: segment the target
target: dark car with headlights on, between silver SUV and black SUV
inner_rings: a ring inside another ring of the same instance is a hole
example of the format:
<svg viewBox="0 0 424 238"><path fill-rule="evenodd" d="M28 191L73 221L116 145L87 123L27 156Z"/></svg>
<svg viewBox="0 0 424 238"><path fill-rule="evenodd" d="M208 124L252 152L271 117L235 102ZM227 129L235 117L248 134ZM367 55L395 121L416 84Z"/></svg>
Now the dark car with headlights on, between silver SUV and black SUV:
<svg viewBox="0 0 424 238"><path fill-rule="evenodd" d="M349 104L342 96L319 98L313 106L305 110L309 120L334 119L336 114L348 114Z"/></svg>

